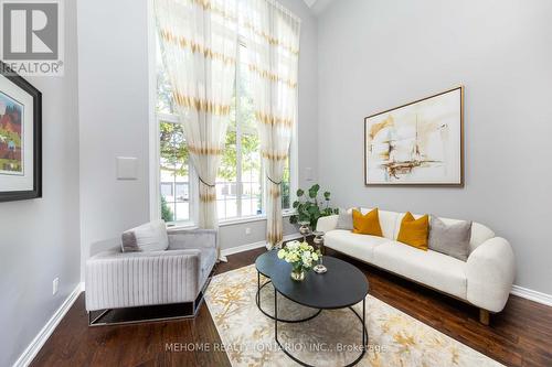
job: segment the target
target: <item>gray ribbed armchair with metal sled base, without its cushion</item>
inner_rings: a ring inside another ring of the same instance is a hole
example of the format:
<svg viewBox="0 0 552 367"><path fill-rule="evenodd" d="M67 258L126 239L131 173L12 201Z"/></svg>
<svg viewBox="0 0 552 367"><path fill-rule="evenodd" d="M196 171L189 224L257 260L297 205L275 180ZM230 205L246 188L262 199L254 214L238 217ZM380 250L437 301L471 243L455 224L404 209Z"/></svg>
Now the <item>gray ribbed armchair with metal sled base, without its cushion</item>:
<svg viewBox="0 0 552 367"><path fill-rule="evenodd" d="M170 230L166 251L123 252L120 246L86 261L89 324L110 309L193 303L194 316L216 263L216 231ZM92 320L92 312L103 310Z"/></svg>

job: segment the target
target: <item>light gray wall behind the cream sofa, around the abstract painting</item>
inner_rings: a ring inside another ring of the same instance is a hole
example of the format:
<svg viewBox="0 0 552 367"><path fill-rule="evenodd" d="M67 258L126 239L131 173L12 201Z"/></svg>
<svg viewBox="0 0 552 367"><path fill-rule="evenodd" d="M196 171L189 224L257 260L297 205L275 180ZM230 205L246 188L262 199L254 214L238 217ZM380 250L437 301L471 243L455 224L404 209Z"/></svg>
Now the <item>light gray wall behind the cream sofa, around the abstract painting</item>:
<svg viewBox="0 0 552 367"><path fill-rule="evenodd" d="M474 219L552 293L552 2L339 0L319 19L319 177L341 205ZM363 118L466 86L466 187L364 187ZM322 147L322 145L321 145Z"/></svg>

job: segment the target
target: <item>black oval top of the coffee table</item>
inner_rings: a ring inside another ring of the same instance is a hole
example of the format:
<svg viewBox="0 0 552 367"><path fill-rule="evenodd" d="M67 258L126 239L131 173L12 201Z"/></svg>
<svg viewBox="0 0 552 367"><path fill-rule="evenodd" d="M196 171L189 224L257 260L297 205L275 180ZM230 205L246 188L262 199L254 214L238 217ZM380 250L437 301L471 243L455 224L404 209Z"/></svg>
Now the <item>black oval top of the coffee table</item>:
<svg viewBox="0 0 552 367"><path fill-rule="evenodd" d="M343 309L361 302L368 294L364 273L352 265L330 256L323 257L328 272L308 271L304 281L290 277L291 265L278 259L277 251L263 253L255 266L270 278L274 288L287 299L314 309Z"/></svg>

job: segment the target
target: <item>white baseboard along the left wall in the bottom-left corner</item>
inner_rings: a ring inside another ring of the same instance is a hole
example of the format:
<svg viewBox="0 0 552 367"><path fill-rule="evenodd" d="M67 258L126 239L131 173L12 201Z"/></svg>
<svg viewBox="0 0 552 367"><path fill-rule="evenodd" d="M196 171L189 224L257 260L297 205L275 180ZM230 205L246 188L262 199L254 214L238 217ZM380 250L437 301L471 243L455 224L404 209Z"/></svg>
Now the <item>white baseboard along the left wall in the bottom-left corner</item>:
<svg viewBox="0 0 552 367"><path fill-rule="evenodd" d="M36 354L40 352L44 343L46 343L47 338L54 332L55 327L63 320L67 311L71 309L73 303L75 303L78 294L84 290L84 283L78 283L73 292L65 299L62 305L55 311L52 317L47 321L47 323L42 327L39 334L34 337L34 339L29 344L26 349L21 354L21 356L15 360L13 367L26 367L34 359Z"/></svg>

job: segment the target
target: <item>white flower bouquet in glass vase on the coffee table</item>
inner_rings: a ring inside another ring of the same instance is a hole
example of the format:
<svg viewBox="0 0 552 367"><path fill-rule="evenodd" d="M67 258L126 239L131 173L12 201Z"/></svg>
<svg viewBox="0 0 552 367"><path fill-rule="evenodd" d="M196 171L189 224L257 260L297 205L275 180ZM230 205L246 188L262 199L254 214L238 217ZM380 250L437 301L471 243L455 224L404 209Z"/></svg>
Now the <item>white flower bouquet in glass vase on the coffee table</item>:
<svg viewBox="0 0 552 367"><path fill-rule="evenodd" d="M322 255L319 250L315 250L307 242L299 242L297 240L287 242L278 251L278 258L291 265L291 278L298 281L305 279L305 272L312 269L321 257Z"/></svg>

